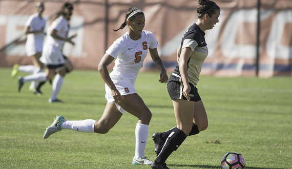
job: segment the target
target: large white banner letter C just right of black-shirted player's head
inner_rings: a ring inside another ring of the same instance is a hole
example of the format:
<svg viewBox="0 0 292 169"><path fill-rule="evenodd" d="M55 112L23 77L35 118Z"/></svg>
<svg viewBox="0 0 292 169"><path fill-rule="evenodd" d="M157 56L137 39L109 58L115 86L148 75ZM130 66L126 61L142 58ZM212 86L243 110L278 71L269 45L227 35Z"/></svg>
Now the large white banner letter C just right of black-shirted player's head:
<svg viewBox="0 0 292 169"><path fill-rule="evenodd" d="M261 13L261 20L271 15L273 11ZM238 10L231 14L224 28L220 49L229 58L256 58L256 45L235 44L238 27L241 23L257 23L257 10ZM256 30L255 30L256 31ZM260 51L262 47L260 47Z"/></svg>

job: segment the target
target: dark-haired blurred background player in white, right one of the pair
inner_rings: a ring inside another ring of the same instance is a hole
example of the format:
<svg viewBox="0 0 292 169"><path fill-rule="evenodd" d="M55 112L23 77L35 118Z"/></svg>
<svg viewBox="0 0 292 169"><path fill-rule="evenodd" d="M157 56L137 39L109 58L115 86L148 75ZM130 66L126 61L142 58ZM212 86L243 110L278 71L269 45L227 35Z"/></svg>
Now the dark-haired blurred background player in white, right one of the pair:
<svg viewBox="0 0 292 169"><path fill-rule="evenodd" d="M62 55L62 47L65 41L74 45L71 40L76 35L67 37L68 21L71 18L73 12L73 5L65 3L62 9L57 13L54 21L48 28L47 40L44 44L43 54L39 58L41 62L46 65L46 73L37 73L29 76L18 78L18 91L22 88L27 81L46 81L52 80L53 77L53 90L52 95L49 98L49 102L61 102L57 99L57 95L63 84L64 77L66 75L65 57Z"/></svg>

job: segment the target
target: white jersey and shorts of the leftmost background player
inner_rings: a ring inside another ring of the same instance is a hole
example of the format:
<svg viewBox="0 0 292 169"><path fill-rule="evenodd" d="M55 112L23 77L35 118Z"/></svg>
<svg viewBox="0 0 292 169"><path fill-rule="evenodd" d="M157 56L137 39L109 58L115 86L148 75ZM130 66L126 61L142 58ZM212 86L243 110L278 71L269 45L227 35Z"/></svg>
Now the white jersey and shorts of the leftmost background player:
<svg viewBox="0 0 292 169"><path fill-rule="evenodd" d="M38 13L30 15L25 23L25 26L29 27L29 31L39 31L45 29L46 20L40 18ZM45 33L29 33L26 41L26 53L28 56L32 56L38 52L43 51Z"/></svg>

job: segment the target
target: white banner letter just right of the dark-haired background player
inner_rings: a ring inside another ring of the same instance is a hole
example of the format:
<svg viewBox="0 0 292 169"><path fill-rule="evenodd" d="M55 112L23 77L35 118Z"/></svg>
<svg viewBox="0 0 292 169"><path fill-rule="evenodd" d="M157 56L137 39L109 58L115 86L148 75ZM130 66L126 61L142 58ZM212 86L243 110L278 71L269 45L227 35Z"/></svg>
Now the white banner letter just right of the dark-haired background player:
<svg viewBox="0 0 292 169"><path fill-rule="evenodd" d="M83 40L84 40L84 17L83 16L75 16L71 18L70 21L70 30L68 36L70 37L74 33L77 34L76 37L72 39L75 43L74 47L69 44L65 43L63 53L68 56L71 55L72 57L87 57L86 52L82 52L83 49Z"/></svg>

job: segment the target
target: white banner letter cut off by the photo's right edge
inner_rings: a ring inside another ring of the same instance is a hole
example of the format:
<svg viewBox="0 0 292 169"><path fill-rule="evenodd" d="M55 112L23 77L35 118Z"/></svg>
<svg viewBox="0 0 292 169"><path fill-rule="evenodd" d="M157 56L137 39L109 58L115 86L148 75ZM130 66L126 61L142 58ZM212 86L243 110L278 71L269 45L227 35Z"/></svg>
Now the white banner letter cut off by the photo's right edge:
<svg viewBox="0 0 292 169"><path fill-rule="evenodd" d="M267 39L266 48L269 57L278 59L292 58L292 47L281 44L284 28L288 23L292 23L292 10L280 11L273 21Z"/></svg>

